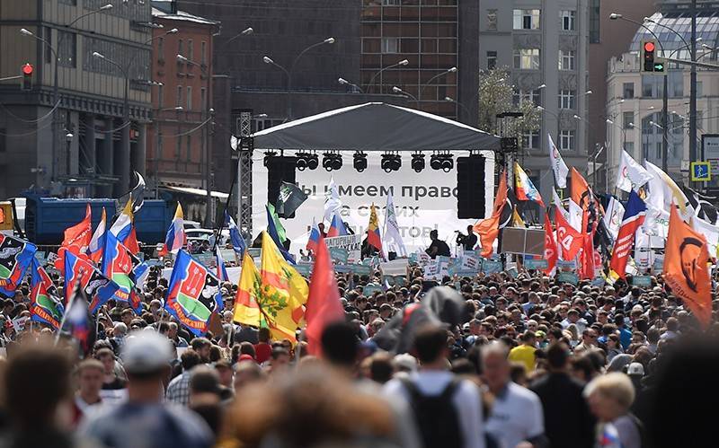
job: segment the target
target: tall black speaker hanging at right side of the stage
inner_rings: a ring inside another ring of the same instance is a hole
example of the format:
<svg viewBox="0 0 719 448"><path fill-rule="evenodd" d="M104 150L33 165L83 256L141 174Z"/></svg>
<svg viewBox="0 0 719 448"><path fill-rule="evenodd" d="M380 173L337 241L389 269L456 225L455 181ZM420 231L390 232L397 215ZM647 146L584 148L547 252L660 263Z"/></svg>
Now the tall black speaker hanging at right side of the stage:
<svg viewBox="0 0 719 448"><path fill-rule="evenodd" d="M457 157L457 218L484 218L484 157Z"/></svg>

